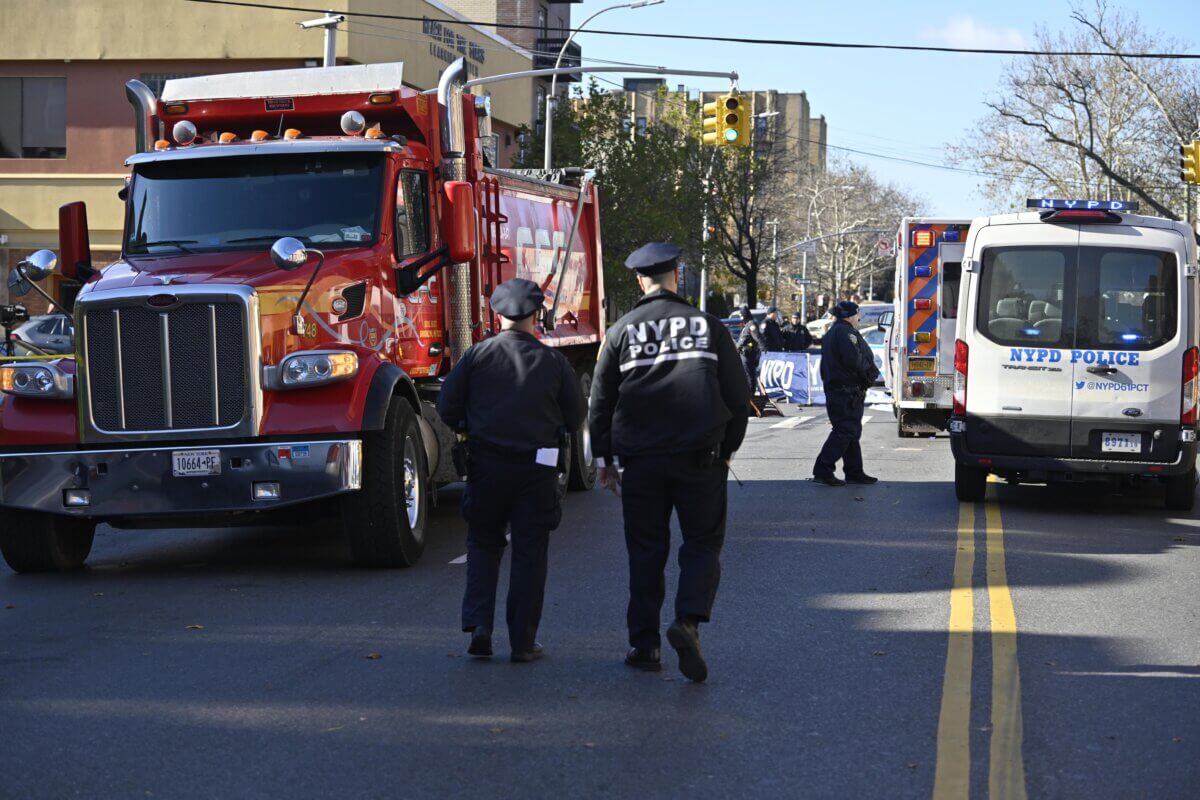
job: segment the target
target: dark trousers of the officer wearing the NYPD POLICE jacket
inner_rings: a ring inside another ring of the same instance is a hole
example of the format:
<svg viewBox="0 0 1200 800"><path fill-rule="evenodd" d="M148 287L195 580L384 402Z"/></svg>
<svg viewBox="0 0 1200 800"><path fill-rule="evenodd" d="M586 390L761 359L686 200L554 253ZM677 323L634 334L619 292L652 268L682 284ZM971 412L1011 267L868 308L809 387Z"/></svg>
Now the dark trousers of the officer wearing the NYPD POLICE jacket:
<svg viewBox="0 0 1200 800"><path fill-rule="evenodd" d="M629 548L629 643L658 648L671 554L671 512L679 518L676 619L707 622L721 579L727 507L726 467L702 467L695 453L622 459L625 546Z"/></svg>

